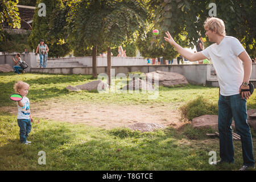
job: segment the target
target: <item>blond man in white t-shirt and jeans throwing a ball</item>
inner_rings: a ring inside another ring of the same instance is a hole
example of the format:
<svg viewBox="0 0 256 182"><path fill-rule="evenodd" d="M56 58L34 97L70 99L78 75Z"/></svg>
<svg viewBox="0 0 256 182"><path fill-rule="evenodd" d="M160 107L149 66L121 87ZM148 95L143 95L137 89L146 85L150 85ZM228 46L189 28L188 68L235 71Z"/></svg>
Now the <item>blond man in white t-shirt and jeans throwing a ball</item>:
<svg viewBox="0 0 256 182"><path fill-rule="evenodd" d="M191 53L177 44L169 32L164 39L174 46L180 55L190 61L211 59L218 75L220 84L220 98L218 100L218 130L220 133L220 158L213 164L223 162L234 163L234 149L232 138L232 118L236 131L241 136L243 166L245 171L254 168L253 142L250 127L247 124L246 100L250 92L241 92L249 89L251 76L251 59L239 40L226 36L225 25L221 19L207 18L204 22L205 35L210 42L214 42L201 52ZM244 68L242 65L242 61ZM241 95L240 95L241 93Z"/></svg>

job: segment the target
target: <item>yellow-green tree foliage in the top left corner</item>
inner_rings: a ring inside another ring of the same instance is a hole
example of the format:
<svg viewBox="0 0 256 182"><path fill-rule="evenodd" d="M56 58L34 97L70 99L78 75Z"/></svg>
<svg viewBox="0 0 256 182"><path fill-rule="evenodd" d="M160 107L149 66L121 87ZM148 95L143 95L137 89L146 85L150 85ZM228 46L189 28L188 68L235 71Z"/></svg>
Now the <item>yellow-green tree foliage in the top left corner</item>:
<svg viewBox="0 0 256 182"><path fill-rule="evenodd" d="M0 40L3 40L3 23L7 22L13 28L20 28L18 1L0 0Z"/></svg>

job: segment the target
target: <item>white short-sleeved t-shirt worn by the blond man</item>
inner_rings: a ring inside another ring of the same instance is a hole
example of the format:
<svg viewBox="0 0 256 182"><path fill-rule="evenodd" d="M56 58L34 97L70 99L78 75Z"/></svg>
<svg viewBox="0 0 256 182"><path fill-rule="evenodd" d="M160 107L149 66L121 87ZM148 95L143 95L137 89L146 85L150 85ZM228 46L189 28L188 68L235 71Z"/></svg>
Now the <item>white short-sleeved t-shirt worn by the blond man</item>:
<svg viewBox="0 0 256 182"><path fill-rule="evenodd" d="M243 51L245 48L232 36L225 36L220 44L212 44L201 51L205 57L212 59L222 96L239 94L243 82L243 64L238 56Z"/></svg>

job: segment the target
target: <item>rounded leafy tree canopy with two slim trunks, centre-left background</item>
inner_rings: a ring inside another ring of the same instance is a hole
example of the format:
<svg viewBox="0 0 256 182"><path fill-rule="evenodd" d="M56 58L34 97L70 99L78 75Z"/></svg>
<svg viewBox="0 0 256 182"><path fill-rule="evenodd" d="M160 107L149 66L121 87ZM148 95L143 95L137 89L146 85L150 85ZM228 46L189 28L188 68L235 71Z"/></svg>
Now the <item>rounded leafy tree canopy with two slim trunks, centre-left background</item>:
<svg viewBox="0 0 256 182"><path fill-rule="evenodd" d="M64 17L67 23L63 28L67 42L77 46L92 48L93 77L97 77L97 49L108 50L108 73L110 77L111 47L117 47L124 42L135 40L139 31L143 31L146 9L137 0L68 0L68 14L55 16L53 19ZM52 30L57 27L52 27ZM142 35L142 34L141 34ZM110 83L110 80L109 80Z"/></svg>

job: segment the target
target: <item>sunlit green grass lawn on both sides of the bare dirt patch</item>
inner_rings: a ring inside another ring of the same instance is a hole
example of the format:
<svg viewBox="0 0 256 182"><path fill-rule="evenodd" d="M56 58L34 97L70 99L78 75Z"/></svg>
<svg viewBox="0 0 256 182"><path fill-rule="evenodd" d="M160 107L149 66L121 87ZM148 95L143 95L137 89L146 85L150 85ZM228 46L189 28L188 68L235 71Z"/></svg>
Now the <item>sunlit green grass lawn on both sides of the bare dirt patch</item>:
<svg viewBox="0 0 256 182"><path fill-rule="evenodd" d="M30 84L28 98L31 102L45 100L90 101L95 104L172 104L180 105L204 96L217 102L218 88L188 85L183 88L159 88L156 100L147 100L145 94L98 94L81 91L68 92L68 85L79 85L92 81L85 75L14 75L0 73L0 104L15 106L9 100L14 92L15 81ZM42 90L44 89L44 90ZM217 104L217 103L216 103ZM256 108L256 96L247 102L249 109ZM0 109L1 109L0 106ZM28 140L30 146L19 143L19 127L16 115L0 111L0 170L236 170L242 166L241 142L234 141L235 164L210 166L210 151L217 152L218 138L205 134L211 129L197 130L190 125L180 129L168 127L164 130L141 133L129 129L106 130L85 125L74 125L40 119L32 123ZM252 131L254 151L256 135ZM38 152L46 152L46 165L38 164Z"/></svg>

